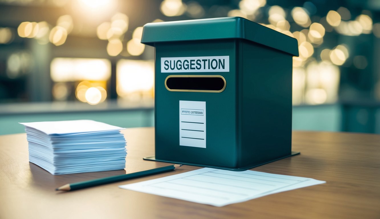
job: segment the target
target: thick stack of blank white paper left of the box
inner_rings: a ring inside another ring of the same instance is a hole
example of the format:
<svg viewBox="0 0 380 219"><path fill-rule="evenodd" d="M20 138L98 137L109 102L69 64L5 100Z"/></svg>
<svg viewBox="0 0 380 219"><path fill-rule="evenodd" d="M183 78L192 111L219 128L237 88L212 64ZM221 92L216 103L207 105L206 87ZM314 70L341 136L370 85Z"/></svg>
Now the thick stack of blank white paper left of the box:
<svg viewBox="0 0 380 219"><path fill-rule="evenodd" d="M29 161L53 175L125 168L121 127L92 120L25 122Z"/></svg>

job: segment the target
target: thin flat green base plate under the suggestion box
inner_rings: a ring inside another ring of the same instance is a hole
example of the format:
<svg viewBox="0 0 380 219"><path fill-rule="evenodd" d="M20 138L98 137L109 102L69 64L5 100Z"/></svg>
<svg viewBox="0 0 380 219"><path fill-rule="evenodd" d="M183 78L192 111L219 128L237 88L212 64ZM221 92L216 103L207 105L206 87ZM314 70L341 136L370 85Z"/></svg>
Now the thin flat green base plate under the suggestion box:
<svg viewBox="0 0 380 219"><path fill-rule="evenodd" d="M294 156L294 155L297 155L297 154L300 154L300 152L299 151L291 151L290 155L287 155L287 156L284 156L284 157L280 157L278 159L269 160L269 161L261 162L261 163L254 163L252 165L248 165L248 166L245 166L245 167L237 167L237 168L220 167L220 166L213 166L213 165L204 165L204 164L198 164L198 163L178 162L178 161L174 161L174 160L161 160L161 159L156 159L155 156L144 157L143 159L144 160L151 160L151 161L165 162L165 163L176 163L176 164L190 165L190 166L196 166L196 167L210 167L210 168L216 168L216 169L220 169L220 170L244 171L244 170L249 170L249 169L252 169L252 168L255 168L255 167L267 164L267 163L274 162L276 160L281 160L281 159L286 158L286 157L291 157L291 156Z"/></svg>

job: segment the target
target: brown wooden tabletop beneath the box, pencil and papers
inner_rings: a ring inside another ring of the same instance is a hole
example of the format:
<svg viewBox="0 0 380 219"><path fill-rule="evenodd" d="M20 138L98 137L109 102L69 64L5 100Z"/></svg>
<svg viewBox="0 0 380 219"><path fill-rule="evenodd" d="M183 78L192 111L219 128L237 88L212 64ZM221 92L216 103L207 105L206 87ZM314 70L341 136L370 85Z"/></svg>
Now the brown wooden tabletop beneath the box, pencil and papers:
<svg viewBox="0 0 380 219"><path fill-rule="evenodd" d="M124 130L127 173L163 167L142 160L154 154L154 129ZM67 183L113 176L123 170L54 176L28 162L26 135L0 136L0 218L380 218L380 135L293 132L301 155L254 170L309 177L326 184L281 192L224 207L119 189L117 186L195 170L56 192Z"/></svg>

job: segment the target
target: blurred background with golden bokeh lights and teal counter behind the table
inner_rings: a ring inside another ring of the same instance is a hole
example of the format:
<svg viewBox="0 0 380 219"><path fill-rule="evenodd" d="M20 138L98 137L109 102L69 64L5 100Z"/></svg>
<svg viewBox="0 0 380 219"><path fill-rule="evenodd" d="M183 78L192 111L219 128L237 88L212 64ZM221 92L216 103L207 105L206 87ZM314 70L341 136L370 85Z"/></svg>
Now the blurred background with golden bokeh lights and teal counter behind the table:
<svg viewBox="0 0 380 219"><path fill-rule="evenodd" d="M298 40L293 130L380 133L379 0L0 0L0 134L68 119L154 126L142 26L227 16Z"/></svg>

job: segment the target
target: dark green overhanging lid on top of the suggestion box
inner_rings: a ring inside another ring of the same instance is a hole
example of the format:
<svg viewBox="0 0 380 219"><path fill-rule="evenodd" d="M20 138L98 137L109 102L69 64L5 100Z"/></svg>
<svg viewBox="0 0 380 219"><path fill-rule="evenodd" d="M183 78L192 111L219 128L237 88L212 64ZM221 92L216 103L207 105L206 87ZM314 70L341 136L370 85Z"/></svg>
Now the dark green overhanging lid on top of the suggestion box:
<svg viewBox="0 0 380 219"><path fill-rule="evenodd" d="M295 38L242 17L220 17L144 25L141 43L241 38L298 56Z"/></svg>

